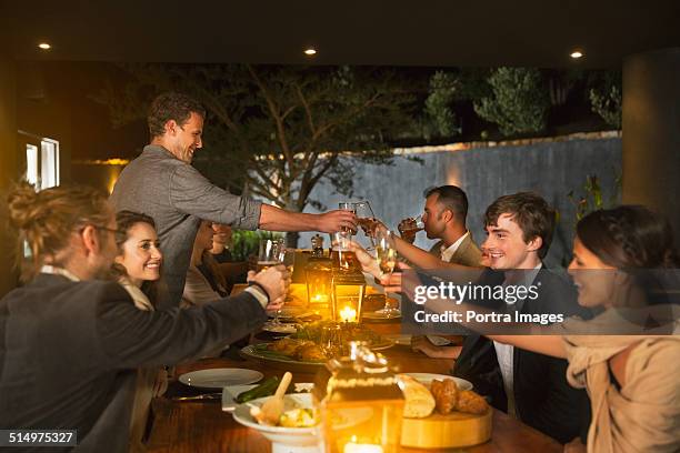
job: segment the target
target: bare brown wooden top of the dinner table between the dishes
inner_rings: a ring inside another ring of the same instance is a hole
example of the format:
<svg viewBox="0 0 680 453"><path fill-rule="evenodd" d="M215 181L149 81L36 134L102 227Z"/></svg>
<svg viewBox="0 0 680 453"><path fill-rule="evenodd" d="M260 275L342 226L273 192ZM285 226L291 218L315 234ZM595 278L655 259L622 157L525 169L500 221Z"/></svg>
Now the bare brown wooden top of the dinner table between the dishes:
<svg viewBox="0 0 680 453"><path fill-rule="evenodd" d="M243 290L243 285L234 286L233 293ZM371 320L364 326L387 338L404 338L400 335L399 319ZM250 336L250 342L261 342L267 339L266 332ZM431 359L414 352L409 344L396 342L391 348L380 351L384 354L397 371L403 373L434 373L450 374L453 360ZM268 363L239 353L238 346L231 346L219 358L204 358L190 363L176 366L173 375L220 368L249 369L261 372L264 379L281 376L287 370L281 363ZM314 371L293 371L292 382L313 382ZM156 397L152 402L152 415L148 429L149 452L229 452L229 453L270 453L271 442L258 431L246 427L233 420L231 413L223 412L220 399L181 400L182 396L194 395L196 389L189 387L171 379L168 392ZM491 409L492 432L491 439L480 445L466 449L441 450L437 452L469 452L469 453L500 453L500 452L561 452L562 445L541 432L523 424L506 413ZM433 452L434 450L420 450L401 447L401 452Z"/></svg>

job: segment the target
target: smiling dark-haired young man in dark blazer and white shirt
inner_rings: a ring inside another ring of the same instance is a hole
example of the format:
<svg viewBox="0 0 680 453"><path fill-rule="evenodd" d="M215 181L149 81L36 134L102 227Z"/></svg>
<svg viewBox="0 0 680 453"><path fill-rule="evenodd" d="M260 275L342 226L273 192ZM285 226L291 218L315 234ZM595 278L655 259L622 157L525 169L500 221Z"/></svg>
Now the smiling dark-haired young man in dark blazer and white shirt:
<svg viewBox="0 0 680 453"><path fill-rule="evenodd" d="M546 200L529 192L501 197L487 209L484 224L482 250L491 269L484 283L537 285L538 298L514 302L522 314L588 316L573 285L543 265L556 226L556 211ZM568 384L566 371L564 360L472 334L463 342L453 374L474 381L497 407L566 443L588 426L589 417L588 397Z"/></svg>

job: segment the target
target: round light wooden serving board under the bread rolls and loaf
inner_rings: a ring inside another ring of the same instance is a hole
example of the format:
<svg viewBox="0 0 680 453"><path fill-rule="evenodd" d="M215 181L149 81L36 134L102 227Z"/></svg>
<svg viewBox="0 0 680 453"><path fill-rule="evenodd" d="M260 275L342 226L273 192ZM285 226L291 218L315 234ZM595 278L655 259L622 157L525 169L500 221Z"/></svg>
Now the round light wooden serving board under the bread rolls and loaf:
<svg viewBox="0 0 680 453"><path fill-rule="evenodd" d="M493 411L483 415L434 412L424 419L403 419L401 445L416 449L452 449L478 445L491 439Z"/></svg>

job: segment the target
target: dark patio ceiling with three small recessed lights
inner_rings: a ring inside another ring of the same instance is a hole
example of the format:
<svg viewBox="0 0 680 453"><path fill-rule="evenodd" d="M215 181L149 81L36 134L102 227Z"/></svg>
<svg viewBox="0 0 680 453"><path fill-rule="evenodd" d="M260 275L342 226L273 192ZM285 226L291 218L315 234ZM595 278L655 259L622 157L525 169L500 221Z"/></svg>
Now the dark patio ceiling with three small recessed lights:
<svg viewBox="0 0 680 453"><path fill-rule="evenodd" d="M603 68L680 46L678 1L7 3L3 48L28 60L567 68L581 49L577 64Z"/></svg>

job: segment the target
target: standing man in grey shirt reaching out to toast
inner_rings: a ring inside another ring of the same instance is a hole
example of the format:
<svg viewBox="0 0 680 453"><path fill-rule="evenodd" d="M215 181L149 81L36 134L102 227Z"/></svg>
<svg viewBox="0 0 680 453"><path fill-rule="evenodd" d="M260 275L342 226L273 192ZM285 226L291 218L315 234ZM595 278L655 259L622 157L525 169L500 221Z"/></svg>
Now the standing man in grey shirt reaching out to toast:
<svg viewBox="0 0 680 453"><path fill-rule="evenodd" d="M356 229L348 211L304 214L236 197L213 185L191 167L202 147L206 110L192 98L163 93L149 110L151 143L120 174L111 202L117 211L130 210L156 221L166 256L163 279L168 291L159 309L179 305L189 269L191 249L201 220L233 228L270 231L322 231Z"/></svg>

